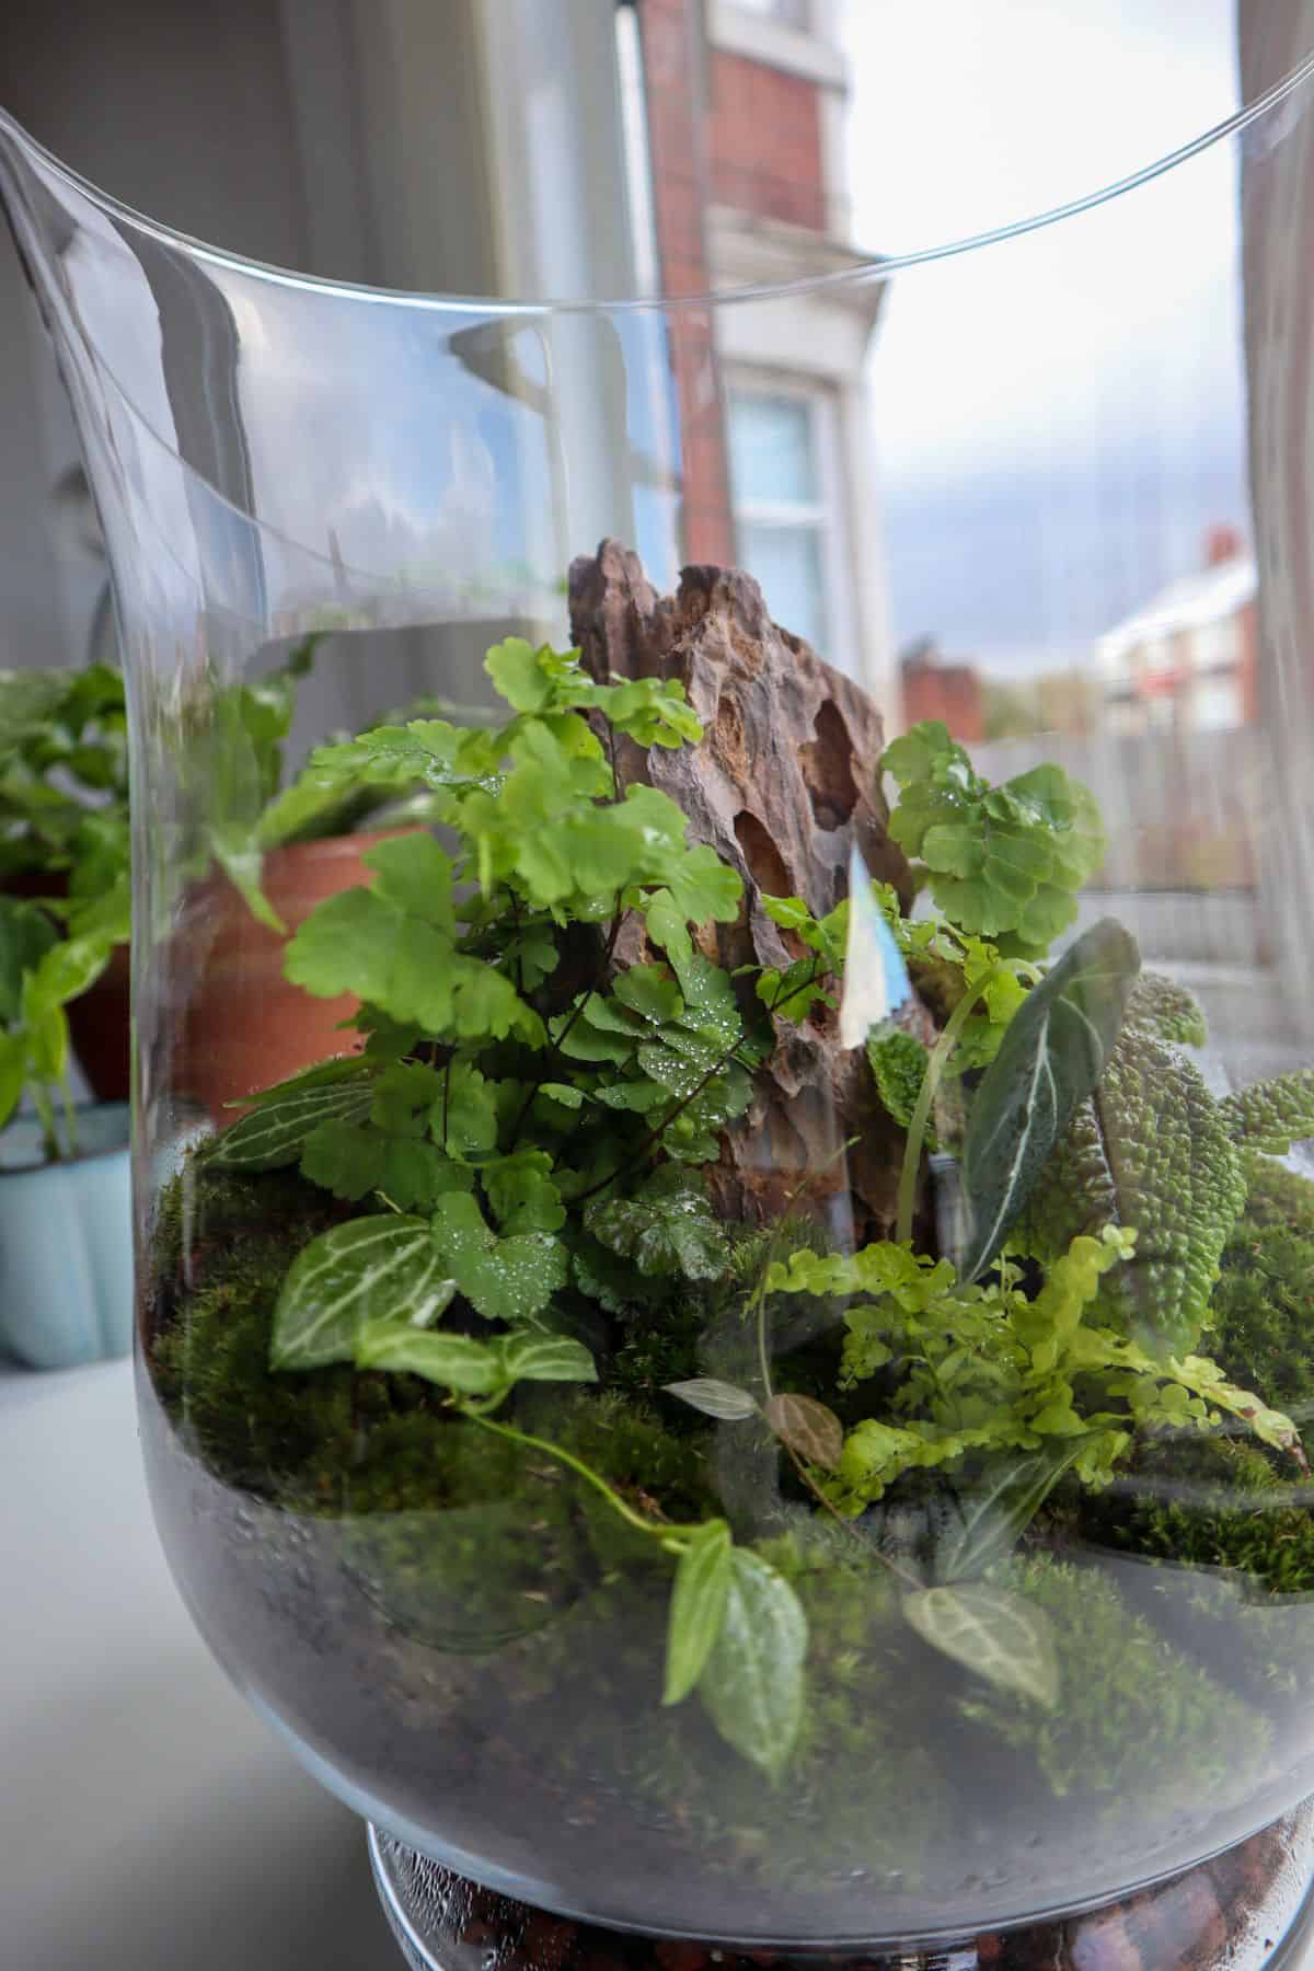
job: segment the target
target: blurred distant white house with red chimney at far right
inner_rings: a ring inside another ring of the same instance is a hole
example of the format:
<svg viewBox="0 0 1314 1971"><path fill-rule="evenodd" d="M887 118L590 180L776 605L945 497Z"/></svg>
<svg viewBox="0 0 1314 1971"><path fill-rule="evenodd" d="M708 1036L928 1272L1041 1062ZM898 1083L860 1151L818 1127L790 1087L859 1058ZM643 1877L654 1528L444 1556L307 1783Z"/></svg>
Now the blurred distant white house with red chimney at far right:
<svg viewBox="0 0 1314 1971"><path fill-rule="evenodd" d="M1233 731L1259 717L1255 558L1233 526L1210 528L1204 566L1105 631L1095 666L1107 731Z"/></svg>

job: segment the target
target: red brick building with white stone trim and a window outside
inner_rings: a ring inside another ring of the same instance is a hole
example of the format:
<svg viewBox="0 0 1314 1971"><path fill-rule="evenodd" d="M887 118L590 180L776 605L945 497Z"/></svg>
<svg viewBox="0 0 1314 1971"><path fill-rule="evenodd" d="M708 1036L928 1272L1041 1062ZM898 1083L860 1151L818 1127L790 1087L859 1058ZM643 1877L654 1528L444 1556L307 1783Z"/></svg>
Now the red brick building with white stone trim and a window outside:
<svg viewBox="0 0 1314 1971"><path fill-rule="evenodd" d="M662 294L841 268L847 65L835 0L636 0ZM670 315L690 560L739 562L772 613L894 710L867 353L879 282Z"/></svg>

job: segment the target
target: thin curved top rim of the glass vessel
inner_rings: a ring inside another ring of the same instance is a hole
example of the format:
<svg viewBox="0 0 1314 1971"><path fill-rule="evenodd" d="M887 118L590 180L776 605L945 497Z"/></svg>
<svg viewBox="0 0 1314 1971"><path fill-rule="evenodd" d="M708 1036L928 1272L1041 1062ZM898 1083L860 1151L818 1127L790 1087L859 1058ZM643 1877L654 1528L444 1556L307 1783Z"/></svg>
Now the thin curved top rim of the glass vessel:
<svg viewBox="0 0 1314 1971"><path fill-rule="evenodd" d="M1229 136L1237 136L1249 124L1257 122L1269 110L1277 108L1286 97L1294 95L1302 83L1314 77L1314 49L1304 55L1294 69L1290 69L1281 81L1273 83L1263 95L1253 102L1243 102L1231 116L1221 122L1212 124L1198 136L1176 150L1164 152L1162 156L1139 166L1135 171L1115 177L1093 191L1082 193L1076 199L1066 199L1062 205L1044 207L1038 213L1028 213L1018 219L1005 221L999 227L989 227L983 233L969 233L959 238L942 240L934 246L912 248L900 254L881 254L871 260L861 260L855 266L833 268L823 274L804 274L796 280L774 280L774 282L749 282L729 288L707 288L697 294L648 294L648 296L617 296L611 300L502 300L496 296L457 296L457 294L426 294L408 288L374 288L361 282L331 280L321 274L303 274L296 268L274 266L266 260L248 260L244 254L230 252L225 246L213 246L207 240L199 240L189 233L179 233L175 227L167 227L162 221L150 219L146 213L136 211L136 207L126 205L112 193L102 191L91 179L83 177L71 166L63 164L53 152L39 144L6 108L0 106L0 134L6 134L20 152L28 152L39 158L41 164L61 177L67 185L79 191L83 197L91 199L100 211L108 213L112 219L146 233L158 244L167 246L175 252L189 254L195 260L209 262L213 266L227 268L230 272L240 272L246 276L256 276L260 280L274 282L284 288L297 288L307 294L339 296L343 300L357 300L366 304L390 304L396 307L416 307L424 311L479 311L489 317L508 315L508 317L534 317L544 315L615 315L615 313L636 313L636 311L666 311L666 309L711 309L729 307L743 302L774 302L788 300L810 294L827 294L835 290L847 290L863 286L865 282L885 282L892 274L902 274L914 266L926 266L936 260L953 260L963 254L981 252L987 246L997 246L1005 240L1020 238L1026 233L1038 233L1044 227L1060 225L1064 219L1076 219L1082 213L1089 213L1099 205L1107 205L1113 199L1135 191L1139 185L1150 183L1162 177L1166 171L1176 170L1180 164L1188 164L1202 152L1212 150L1214 144L1223 142Z"/></svg>

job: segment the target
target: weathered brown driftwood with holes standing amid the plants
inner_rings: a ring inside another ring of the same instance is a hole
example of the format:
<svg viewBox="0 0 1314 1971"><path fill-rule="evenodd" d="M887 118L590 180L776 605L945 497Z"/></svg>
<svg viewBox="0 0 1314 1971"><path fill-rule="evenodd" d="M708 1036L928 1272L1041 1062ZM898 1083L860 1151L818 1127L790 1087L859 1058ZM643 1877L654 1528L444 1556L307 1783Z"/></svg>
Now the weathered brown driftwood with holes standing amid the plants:
<svg viewBox="0 0 1314 1971"><path fill-rule="evenodd" d="M910 893L908 863L887 830L877 706L772 623L751 576L686 568L676 595L658 597L638 556L605 540L571 564L569 611L595 678L680 678L703 721L699 747L644 753L623 741L617 769L624 782L670 794L690 816L691 838L745 879L739 922L699 934L709 958L733 972L802 956L758 895L804 897L823 915L847 895L853 844L871 875ZM619 956L632 962L640 952L634 920ZM835 1015L823 1007L780 1031L753 1110L711 1173L721 1208L770 1218L812 1177L812 1208L839 1218L835 1232L887 1236L902 1135L875 1096L863 1051L839 1047ZM837 1157L851 1137L849 1155Z"/></svg>

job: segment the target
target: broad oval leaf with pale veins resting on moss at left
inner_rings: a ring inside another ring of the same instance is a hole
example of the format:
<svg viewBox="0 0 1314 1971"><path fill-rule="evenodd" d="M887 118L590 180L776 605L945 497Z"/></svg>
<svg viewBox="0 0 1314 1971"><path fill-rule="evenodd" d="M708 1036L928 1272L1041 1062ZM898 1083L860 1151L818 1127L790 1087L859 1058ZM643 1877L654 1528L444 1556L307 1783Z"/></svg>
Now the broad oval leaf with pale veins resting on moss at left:
<svg viewBox="0 0 1314 1971"><path fill-rule="evenodd" d="M288 1267L270 1368L351 1362L366 1325L422 1328L453 1293L424 1218L349 1218L303 1246Z"/></svg>

